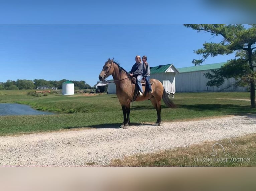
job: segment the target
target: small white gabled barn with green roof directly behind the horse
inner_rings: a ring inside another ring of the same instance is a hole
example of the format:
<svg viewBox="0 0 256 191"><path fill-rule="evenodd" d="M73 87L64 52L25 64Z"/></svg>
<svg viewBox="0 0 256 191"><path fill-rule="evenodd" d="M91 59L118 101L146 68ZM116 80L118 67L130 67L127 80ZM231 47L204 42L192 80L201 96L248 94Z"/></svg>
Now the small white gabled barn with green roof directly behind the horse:
<svg viewBox="0 0 256 191"><path fill-rule="evenodd" d="M160 65L156 67L150 67L150 78L159 80L166 90L167 94L171 94L172 97L175 94L175 75L178 70L173 66L173 64ZM115 83L109 83L108 94L116 93Z"/></svg>

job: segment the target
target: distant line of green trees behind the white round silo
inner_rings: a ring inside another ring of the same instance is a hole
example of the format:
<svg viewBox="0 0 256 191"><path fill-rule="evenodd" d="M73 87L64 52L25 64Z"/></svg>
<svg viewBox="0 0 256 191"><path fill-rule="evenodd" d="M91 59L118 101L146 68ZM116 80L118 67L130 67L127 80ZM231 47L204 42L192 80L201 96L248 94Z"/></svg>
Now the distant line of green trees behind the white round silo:
<svg viewBox="0 0 256 191"><path fill-rule="evenodd" d="M33 90L39 86L49 86L49 88L55 87L57 89L62 89L62 83L68 80L62 79L59 81L47 81L43 79L35 80L7 80L6 82L0 82L0 90ZM91 89L92 87L89 84L86 84L85 81L71 81L74 83L75 89Z"/></svg>

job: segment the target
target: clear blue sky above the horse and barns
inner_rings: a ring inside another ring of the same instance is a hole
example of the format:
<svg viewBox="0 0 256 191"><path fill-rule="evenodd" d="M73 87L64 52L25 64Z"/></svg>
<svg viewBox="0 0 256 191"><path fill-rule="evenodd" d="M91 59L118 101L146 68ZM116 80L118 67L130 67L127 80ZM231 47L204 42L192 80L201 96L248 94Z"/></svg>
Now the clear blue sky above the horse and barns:
<svg viewBox="0 0 256 191"><path fill-rule="evenodd" d="M0 18L5 18L0 20L0 82L67 79L93 86L108 58L127 71L136 55L147 55L152 67L174 64L182 68L201 58L193 50L202 48L205 41L220 40L179 24L217 23L221 19L221 11L218 17L202 17L207 9L185 16L186 11L202 8L190 1L186 7L171 1L122 5L120 1L6 2L0 8ZM234 55L208 58L204 64L231 58Z"/></svg>

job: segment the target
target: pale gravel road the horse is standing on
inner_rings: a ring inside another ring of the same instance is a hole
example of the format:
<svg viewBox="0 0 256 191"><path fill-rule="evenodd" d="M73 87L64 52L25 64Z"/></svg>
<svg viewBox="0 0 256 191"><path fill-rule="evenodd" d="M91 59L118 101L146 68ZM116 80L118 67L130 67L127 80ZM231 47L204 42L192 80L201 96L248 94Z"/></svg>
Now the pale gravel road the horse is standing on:
<svg viewBox="0 0 256 191"><path fill-rule="evenodd" d="M256 115L0 137L0 166L103 166L136 153L256 133Z"/></svg>

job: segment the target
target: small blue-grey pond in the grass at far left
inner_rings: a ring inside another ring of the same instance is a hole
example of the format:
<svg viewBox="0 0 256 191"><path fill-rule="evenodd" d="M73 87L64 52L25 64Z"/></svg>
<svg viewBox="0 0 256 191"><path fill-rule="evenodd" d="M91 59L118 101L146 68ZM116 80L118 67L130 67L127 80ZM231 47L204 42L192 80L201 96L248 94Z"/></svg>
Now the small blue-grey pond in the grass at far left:
<svg viewBox="0 0 256 191"><path fill-rule="evenodd" d="M52 115L54 113L38 111L29 105L17 103L0 103L0 115Z"/></svg>

